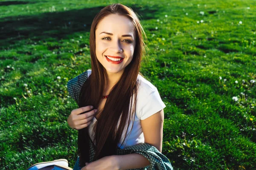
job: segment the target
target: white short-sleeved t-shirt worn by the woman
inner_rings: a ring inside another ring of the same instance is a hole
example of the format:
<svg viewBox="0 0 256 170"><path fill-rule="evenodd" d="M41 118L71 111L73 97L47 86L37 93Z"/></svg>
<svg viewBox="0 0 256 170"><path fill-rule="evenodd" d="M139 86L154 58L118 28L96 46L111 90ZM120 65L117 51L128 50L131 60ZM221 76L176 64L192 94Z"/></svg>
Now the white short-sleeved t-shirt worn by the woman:
<svg viewBox="0 0 256 170"><path fill-rule="evenodd" d="M87 77L89 77L90 74L91 74L91 70L89 69L87 70ZM125 138L125 132L128 125L128 120L127 120L127 125L123 130L121 140L118 144L118 147L120 147L121 149L124 149L125 147L128 147L128 146L134 146L136 144L144 143L144 135L141 128L140 120L144 120L149 116L152 116L154 113L157 113L158 111L166 107L166 105L164 104L164 102L160 97L160 94L157 91L157 88L154 85L152 85L151 82L149 82L148 80L146 80L140 75L138 75L137 79L139 79L139 87L137 91L137 102L136 102L137 106L135 110L134 126L131 130L132 120L133 120L133 118L131 118L131 122L129 124L128 131L127 131L128 136ZM132 104L134 103L134 97L131 99L132 99L132 102L130 102L130 105L131 103ZM130 113L130 107L129 107L129 113ZM93 131L92 131L93 125L95 124L96 121L97 119L94 117L93 122L88 126L89 135L91 139L93 134ZM124 138L125 138L125 142L121 146Z"/></svg>

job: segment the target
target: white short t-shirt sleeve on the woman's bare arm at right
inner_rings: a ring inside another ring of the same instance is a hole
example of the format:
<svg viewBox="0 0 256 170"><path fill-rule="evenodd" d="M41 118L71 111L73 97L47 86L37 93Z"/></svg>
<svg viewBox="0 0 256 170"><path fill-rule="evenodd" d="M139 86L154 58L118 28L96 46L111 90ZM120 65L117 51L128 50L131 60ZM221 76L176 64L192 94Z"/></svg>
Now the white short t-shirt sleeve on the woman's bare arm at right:
<svg viewBox="0 0 256 170"><path fill-rule="evenodd" d="M155 88L149 95L143 96L140 102L139 119L141 120L147 119L149 116L152 116L154 113L157 113L166 107L157 88Z"/></svg>

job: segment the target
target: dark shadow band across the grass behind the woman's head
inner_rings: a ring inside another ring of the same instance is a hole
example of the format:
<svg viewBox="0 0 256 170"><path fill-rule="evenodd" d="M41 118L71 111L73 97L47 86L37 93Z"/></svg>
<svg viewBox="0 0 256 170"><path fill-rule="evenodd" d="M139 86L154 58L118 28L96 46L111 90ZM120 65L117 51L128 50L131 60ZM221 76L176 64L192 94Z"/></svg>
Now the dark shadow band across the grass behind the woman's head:
<svg viewBox="0 0 256 170"><path fill-rule="evenodd" d="M24 2L24 1L21 1ZM139 6L139 5L138 5ZM14 48L20 40L60 40L79 31L90 31L95 15L105 6L79 10L48 12L38 15L6 17L2 19L0 42L2 49ZM157 7L132 8L142 20L154 18Z"/></svg>

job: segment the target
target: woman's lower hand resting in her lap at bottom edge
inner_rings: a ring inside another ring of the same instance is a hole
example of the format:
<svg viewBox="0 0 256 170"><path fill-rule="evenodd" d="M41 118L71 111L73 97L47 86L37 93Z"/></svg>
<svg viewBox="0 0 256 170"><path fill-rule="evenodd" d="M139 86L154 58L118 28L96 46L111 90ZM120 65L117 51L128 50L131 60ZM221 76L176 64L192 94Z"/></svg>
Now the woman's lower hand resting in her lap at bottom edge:
<svg viewBox="0 0 256 170"><path fill-rule="evenodd" d="M113 155L86 164L81 170L119 170L118 162Z"/></svg>

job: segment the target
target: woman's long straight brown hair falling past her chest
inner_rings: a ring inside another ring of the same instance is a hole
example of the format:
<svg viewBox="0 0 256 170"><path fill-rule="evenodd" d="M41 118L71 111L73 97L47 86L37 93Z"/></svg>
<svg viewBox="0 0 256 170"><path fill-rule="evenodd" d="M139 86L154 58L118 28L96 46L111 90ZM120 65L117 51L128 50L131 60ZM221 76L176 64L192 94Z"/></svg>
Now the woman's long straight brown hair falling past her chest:
<svg viewBox="0 0 256 170"><path fill-rule="evenodd" d="M122 77L111 89L105 106L96 121L96 125L94 126L93 132L95 136L93 142L96 142L96 153L93 161L116 153L116 150L119 149L118 143L121 139L124 127L127 125L127 120L129 125L131 118L134 118L138 87L137 77L138 74L140 74L140 62L145 54L146 47L144 43L144 38L146 40L145 32L140 24L137 14L131 8L120 3L115 3L106 6L99 11L99 13L94 17L90 29L91 75L81 88L79 96L80 103L78 104L79 108L88 105L93 105L94 108L98 108L100 99L103 95L105 85L104 77L107 77L107 73L105 68L96 58L95 30L97 28L97 24L109 14L119 14L128 17L134 23L136 31L136 45L132 61L126 66ZM140 75L142 76L142 74ZM133 97L134 103L132 104L131 98ZM132 107L134 108L133 110ZM130 113L128 113L129 111ZM127 131L128 128L126 129L126 133ZM79 130L78 152L80 167L84 167L85 162L89 162L90 160L90 140L88 127Z"/></svg>

